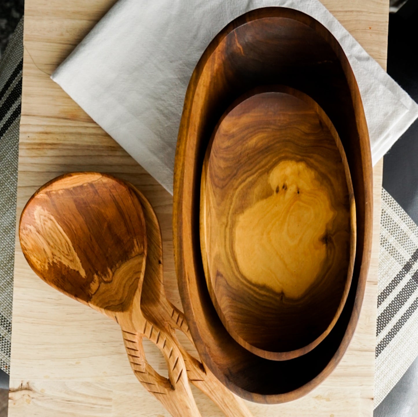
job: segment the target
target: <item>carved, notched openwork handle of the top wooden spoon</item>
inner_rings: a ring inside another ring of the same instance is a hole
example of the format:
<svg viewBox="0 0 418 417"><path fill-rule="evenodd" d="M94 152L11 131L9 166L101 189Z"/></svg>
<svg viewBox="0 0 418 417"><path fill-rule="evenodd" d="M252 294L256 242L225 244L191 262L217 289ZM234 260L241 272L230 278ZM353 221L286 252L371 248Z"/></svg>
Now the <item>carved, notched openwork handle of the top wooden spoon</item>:
<svg viewBox="0 0 418 417"><path fill-rule="evenodd" d="M143 320L143 331L122 328L123 341L133 372L148 392L158 399L173 417L200 417L187 379L186 365L176 343L165 331ZM145 359L142 339L150 339L163 353L168 379L162 377Z"/></svg>

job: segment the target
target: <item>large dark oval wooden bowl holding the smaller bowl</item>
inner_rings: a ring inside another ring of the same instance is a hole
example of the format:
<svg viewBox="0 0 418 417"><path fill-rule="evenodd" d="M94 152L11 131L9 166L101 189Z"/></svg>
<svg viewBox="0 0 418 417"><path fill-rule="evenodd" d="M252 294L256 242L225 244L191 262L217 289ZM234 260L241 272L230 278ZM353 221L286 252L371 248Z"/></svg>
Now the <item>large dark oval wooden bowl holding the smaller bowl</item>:
<svg viewBox="0 0 418 417"><path fill-rule="evenodd" d="M201 170L218 120L239 96L260 85L287 85L310 96L334 124L347 156L356 201L352 284L334 328L312 351L286 361L261 358L223 326L206 286L199 238ZM296 399L342 358L363 301L372 244L372 164L362 101L336 39L318 21L286 8L259 9L227 25L191 77L178 134L173 243L180 296L201 359L236 394L255 402Z"/></svg>

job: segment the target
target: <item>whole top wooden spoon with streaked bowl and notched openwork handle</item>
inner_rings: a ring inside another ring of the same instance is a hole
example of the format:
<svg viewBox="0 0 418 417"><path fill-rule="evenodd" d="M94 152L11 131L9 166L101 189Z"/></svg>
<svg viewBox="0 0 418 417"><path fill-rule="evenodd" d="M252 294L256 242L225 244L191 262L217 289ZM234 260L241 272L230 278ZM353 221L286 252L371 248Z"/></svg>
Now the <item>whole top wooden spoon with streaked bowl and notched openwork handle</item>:
<svg viewBox="0 0 418 417"><path fill-rule="evenodd" d="M174 417L200 416L180 349L141 308L147 237L131 187L98 173L58 177L26 204L19 237L29 265L46 283L120 324L136 377ZM168 379L146 361L144 336L161 349Z"/></svg>

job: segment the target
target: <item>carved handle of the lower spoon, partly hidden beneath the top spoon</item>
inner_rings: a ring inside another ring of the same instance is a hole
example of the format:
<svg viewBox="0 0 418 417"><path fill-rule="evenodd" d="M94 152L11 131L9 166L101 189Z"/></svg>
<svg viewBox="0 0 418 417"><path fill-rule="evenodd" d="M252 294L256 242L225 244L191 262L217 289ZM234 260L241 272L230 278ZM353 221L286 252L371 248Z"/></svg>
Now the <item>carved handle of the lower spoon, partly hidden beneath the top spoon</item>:
<svg viewBox="0 0 418 417"><path fill-rule="evenodd" d="M186 334L188 339L193 343L184 314L168 300L167 303L169 303L173 308L170 324L175 329L178 329ZM252 414L245 405L244 401L221 384L221 382L218 381L214 374L212 374L212 372L204 366L202 362L191 356L191 354L189 354L189 352L186 351L186 349L184 349L181 343L177 340L175 334L173 334L173 338L176 340L181 354L184 357L190 382L212 399L212 401L217 404L227 417L252 417Z"/></svg>

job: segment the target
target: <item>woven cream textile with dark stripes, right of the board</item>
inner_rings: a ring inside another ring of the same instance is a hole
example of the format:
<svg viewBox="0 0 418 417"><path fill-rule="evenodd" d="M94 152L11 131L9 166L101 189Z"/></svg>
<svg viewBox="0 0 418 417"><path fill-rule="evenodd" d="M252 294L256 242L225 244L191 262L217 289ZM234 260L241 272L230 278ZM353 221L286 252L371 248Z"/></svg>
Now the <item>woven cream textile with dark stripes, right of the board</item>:
<svg viewBox="0 0 418 417"><path fill-rule="evenodd" d="M418 226L382 190L375 407L418 355Z"/></svg>

